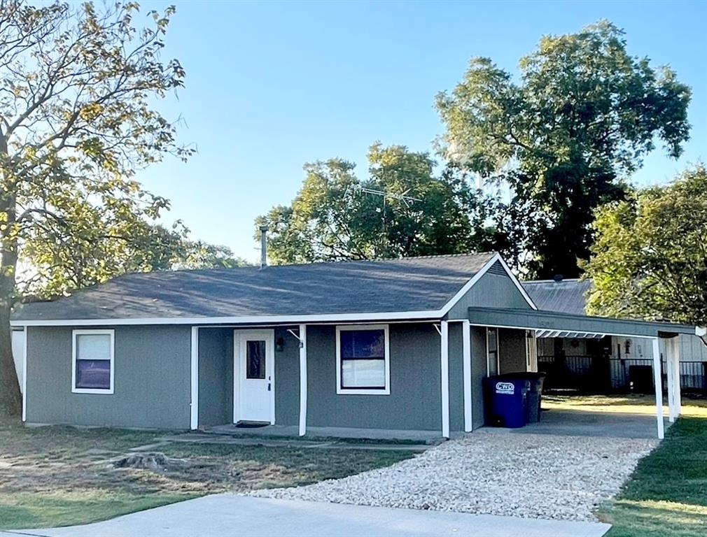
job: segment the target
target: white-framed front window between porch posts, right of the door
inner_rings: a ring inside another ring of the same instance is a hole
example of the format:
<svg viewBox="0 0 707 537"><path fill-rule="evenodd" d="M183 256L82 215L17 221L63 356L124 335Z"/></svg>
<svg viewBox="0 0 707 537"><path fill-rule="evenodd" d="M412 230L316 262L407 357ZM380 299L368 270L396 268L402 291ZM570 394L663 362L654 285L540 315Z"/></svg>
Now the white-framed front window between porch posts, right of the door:
<svg viewBox="0 0 707 537"><path fill-rule="evenodd" d="M387 324L337 326L337 394L390 394Z"/></svg>

